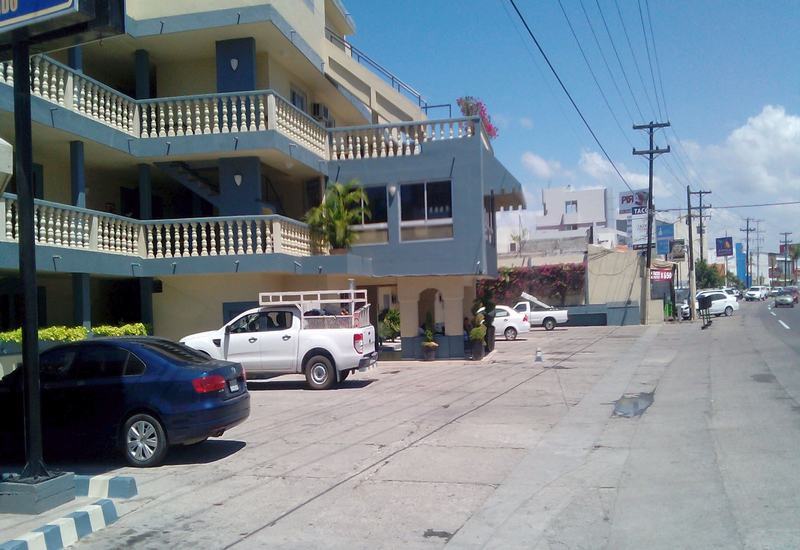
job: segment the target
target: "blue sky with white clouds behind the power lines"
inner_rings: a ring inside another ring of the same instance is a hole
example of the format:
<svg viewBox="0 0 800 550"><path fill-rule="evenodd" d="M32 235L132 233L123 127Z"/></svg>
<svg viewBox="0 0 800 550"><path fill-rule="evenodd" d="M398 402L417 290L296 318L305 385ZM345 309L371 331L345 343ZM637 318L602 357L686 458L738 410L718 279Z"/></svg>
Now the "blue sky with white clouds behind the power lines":
<svg viewBox="0 0 800 550"><path fill-rule="evenodd" d="M632 155L633 146L646 148L647 136L631 126L672 123L656 134L657 145L672 147L655 163L656 209L686 208L687 184L695 191L710 190L705 200L715 206L800 201L800 3L516 1L633 189L647 186L647 161ZM528 203L526 213L504 214L501 223L516 226L521 220L533 231L540 190L548 186L604 185L615 196L626 189L509 0L345 4L357 27L350 41L419 90L429 104L451 103L458 116L457 97L473 95L486 103L499 127L495 154L523 183ZM447 111L429 116L445 118ZM726 232L743 239L739 229L749 216L763 220L762 250L777 251L782 231L793 231L800 242L800 204L710 213L709 240Z"/></svg>

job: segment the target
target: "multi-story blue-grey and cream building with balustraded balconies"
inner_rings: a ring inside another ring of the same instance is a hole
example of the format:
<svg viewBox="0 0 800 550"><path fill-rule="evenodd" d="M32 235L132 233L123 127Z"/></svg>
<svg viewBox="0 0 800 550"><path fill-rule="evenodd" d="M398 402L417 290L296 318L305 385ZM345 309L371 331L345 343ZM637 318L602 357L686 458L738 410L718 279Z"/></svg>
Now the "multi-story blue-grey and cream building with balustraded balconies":
<svg viewBox="0 0 800 550"><path fill-rule="evenodd" d="M339 0L137 0L125 33L31 58L42 324L142 320L178 338L259 291L341 288L399 306L406 357L430 311L463 354L494 212L523 207L479 118L429 120L414 88L345 38ZM394 51L394 50L393 50ZM14 67L0 63L13 143ZM372 217L344 255L302 221L357 180ZM0 328L20 319L14 184L0 200Z"/></svg>

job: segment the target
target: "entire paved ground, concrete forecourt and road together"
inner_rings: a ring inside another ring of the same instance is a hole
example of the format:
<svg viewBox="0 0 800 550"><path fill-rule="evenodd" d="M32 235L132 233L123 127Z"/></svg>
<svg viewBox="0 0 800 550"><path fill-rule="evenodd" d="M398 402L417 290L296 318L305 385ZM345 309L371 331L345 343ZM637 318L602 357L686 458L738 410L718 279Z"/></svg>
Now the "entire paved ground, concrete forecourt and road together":
<svg viewBox="0 0 800 550"><path fill-rule="evenodd" d="M537 330L336 391L251 384L222 440L113 468L140 495L79 546L796 548L800 319L769 304L705 331ZM648 392L641 416L612 414Z"/></svg>

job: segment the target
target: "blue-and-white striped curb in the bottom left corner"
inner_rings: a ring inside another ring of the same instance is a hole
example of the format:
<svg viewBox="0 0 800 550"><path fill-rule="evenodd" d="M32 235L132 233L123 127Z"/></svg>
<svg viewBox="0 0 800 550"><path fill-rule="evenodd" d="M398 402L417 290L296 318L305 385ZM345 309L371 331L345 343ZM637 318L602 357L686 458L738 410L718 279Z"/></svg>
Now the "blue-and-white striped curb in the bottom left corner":
<svg viewBox="0 0 800 550"><path fill-rule="evenodd" d="M0 550L60 550L111 525L117 518L114 503L101 499L14 540L0 543Z"/></svg>

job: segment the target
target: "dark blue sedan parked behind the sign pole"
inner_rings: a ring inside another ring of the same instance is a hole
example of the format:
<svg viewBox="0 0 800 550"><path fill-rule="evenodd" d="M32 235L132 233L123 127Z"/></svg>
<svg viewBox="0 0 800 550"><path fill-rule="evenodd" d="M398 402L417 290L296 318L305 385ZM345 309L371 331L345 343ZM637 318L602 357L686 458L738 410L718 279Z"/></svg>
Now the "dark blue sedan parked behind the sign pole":
<svg viewBox="0 0 800 550"><path fill-rule="evenodd" d="M132 466L155 466L170 445L191 445L250 415L245 372L160 338L102 338L64 344L40 358L46 446L100 442ZM22 373L0 381L3 435L22 441Z"/></svg>

